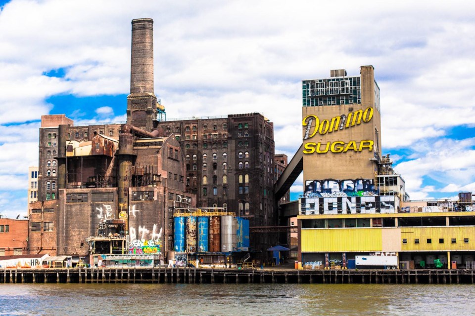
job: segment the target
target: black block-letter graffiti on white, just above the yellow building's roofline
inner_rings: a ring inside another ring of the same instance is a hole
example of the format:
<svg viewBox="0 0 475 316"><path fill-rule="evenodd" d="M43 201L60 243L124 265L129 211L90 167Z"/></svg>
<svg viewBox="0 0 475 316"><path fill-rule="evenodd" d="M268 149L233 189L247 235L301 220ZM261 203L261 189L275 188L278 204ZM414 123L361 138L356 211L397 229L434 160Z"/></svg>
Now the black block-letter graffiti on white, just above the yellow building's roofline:
<svg viewBox="0 0 475 316"><path fill-rule="evenodd" d="M399 203L393 196L373 197L303 197L301 215L395 213Z"/></svg>

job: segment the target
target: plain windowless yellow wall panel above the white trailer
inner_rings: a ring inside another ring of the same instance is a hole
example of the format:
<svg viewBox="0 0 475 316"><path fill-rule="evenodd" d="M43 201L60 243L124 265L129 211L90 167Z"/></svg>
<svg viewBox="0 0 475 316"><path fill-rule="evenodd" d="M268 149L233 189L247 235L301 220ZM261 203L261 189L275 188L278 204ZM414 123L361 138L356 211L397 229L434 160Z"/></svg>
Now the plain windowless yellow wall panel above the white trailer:
<svg viewBox="0 0 475 316"><path fill-rule="evenodd" d="M302 229L302 252L382 251L380 228Z"/></svg>

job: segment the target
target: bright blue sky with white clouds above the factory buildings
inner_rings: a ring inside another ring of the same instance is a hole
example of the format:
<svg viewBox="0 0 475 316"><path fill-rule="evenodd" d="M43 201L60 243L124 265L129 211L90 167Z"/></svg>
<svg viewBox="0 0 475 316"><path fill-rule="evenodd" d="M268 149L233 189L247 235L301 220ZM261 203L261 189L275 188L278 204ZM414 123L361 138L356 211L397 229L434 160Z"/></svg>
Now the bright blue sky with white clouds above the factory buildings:
<svg viewBox="0 0 475 316"><path fill-rule="evenodd" d="M301 80L373 65L382 152L411 199L475 192L475 2L440 2L0 0L0 214L26 215L42 115L126 120L143 17L167 118L259 112L291 158Z"/></svg>

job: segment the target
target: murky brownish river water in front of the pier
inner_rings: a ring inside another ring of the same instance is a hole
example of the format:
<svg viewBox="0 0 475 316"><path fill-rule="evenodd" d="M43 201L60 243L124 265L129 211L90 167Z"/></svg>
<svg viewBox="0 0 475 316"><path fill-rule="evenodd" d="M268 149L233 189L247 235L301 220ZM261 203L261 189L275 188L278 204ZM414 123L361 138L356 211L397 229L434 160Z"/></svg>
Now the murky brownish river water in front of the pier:
<svg viewBox="0 0 475 316"><path fill-rule="evenodd" d="M0 284L0 315L474 315L473 285Z"/></svg>

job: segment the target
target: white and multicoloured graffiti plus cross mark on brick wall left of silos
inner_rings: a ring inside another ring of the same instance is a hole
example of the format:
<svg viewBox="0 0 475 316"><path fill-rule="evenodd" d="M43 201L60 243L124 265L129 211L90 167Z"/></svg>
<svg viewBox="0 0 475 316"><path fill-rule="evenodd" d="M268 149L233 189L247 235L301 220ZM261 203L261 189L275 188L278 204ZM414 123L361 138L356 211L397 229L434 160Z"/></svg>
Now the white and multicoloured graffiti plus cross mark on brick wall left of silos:
<svg viewBox="0 0 475 316"><path fill-rule="evenodd" d="M129 214L137 218L136 205L129 206ZM139 227L129 227L129 254L161 254L163 228L158 229L157 224L153 224L151 230L139 225Z"/></svg>

